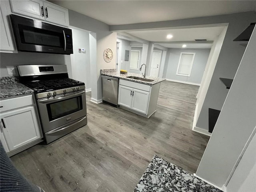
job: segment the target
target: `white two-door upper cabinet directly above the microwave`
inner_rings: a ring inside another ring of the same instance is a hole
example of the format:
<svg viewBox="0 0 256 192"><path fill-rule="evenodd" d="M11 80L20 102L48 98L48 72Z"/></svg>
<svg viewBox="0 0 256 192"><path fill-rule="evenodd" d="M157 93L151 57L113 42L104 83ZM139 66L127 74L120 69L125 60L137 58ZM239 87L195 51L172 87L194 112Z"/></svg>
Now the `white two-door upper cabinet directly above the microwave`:
<svg viewBox="0 0 256 192"><path fill-rule="evenodd" d="M12 12L69 26L68 9L41 0L11 0Z"/></svg>

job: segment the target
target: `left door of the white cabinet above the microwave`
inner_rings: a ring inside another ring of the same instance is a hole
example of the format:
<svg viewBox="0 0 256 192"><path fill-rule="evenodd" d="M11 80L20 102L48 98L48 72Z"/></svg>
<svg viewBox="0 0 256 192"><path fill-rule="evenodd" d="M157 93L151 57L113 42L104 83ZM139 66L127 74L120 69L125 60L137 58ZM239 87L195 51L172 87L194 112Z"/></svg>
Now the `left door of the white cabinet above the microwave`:
<svg viewBox="0 0 256 192"><path fill-rule="evenodd" d="M11 0L12 12L44 20L42 1L38 0Z"/></svg>

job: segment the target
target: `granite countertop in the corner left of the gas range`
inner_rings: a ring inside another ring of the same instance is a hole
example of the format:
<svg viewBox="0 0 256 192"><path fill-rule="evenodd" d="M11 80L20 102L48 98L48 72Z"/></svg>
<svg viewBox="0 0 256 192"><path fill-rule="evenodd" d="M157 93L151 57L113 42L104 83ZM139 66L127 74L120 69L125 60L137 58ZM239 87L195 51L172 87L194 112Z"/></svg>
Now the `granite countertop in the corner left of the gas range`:
<svg viewBox="0 0 256 192"><path fill-rule="evenodd" d="M0 99L24 96L34 93L32 89L21 84L16 77L1 77L0 89Z"/></svg>

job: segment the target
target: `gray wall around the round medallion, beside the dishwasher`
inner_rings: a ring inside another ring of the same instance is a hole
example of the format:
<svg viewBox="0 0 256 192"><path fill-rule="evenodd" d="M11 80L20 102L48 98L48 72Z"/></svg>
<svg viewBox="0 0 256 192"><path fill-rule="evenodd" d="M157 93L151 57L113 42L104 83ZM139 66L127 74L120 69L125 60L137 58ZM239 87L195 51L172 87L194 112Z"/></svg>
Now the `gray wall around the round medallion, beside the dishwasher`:
<svg viewBox="0 0 256 192"><path fill-rule="evenodd" d="M68 10L69 24L96 33L96 63L91 63L91 85L92 98L94 102L101 102L101 78L100 69L116 68L116 32L109 31L109 26L99 20L90 18L78 12ZM94 34L95 36L95 34ZM94 42L94 41L92 41ZM113 59L106 63L102 56L104 50L110 48L113 52ZM95 62L95 60L94 60Z"/></svg>

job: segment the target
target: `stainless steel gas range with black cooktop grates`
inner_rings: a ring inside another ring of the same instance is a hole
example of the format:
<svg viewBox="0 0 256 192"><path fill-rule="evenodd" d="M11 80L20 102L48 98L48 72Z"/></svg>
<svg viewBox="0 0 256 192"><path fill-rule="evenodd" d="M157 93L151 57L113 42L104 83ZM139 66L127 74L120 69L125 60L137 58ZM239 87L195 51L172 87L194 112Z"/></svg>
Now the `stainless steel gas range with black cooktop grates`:
<svg viewBox="0 0 256 192"><path fill-rule="evenodd" d="M20 82L34 90L46 143L87 124L85 84L68 78L66 65L18 66Z"/></svg>

